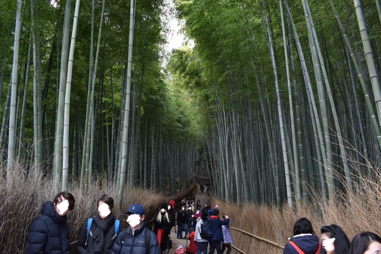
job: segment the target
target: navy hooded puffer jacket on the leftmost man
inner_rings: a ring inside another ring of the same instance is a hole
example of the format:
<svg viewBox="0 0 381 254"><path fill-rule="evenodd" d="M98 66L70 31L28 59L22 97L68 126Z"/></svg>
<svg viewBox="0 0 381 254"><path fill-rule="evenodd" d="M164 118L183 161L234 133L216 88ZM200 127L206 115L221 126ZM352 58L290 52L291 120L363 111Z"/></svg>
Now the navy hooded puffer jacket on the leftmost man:
<svg viewBox="0 0 381 254"><path fill-rule="evenodd" d="M29 227L27 254L69 254L70 232L67 216L59 216L51 201L45 202L41 215Z"/></svg>

